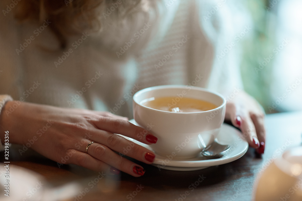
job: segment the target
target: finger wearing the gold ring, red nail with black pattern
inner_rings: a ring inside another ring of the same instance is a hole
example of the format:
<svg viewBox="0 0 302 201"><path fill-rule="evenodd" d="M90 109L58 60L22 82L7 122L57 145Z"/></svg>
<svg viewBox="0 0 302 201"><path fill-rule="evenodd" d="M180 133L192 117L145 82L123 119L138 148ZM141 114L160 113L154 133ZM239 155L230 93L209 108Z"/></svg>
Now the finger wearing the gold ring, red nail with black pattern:
<svg viewBox="0 0 302 201"><path fill-rule="evenodd" d="M87 154L134 177L140 177L145 173L143 167L121 157L119 154L114 153L111 149L102 144L91 144ZM146 159L140 158L140 160L150 164Z"/></svg>

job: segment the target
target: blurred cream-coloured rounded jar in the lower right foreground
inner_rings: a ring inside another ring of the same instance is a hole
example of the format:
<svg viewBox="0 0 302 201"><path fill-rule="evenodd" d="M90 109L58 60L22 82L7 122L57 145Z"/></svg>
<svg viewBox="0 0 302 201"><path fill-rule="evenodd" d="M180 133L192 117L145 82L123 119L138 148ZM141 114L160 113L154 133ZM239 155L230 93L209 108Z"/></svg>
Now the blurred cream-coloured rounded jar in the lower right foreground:
<svg viewBox="0 0 302 201"><path fill-rule="evenodd" d="M262 173L255 201L302 201L302 147L285 151Z"/></svg>

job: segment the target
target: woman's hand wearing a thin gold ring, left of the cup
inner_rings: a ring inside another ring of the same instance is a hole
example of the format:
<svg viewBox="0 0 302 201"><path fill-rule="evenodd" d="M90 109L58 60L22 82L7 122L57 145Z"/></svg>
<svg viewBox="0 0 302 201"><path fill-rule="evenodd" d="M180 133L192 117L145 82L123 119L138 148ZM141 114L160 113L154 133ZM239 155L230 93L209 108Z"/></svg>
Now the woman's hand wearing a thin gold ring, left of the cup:
<svg viewBox="0 0 302 201"><path fill-rule="evenodd" d="M6 110L13 104L14 101L7 102L0 115L0 125L9 131L10 142L30 143L32 149L58 163L116 174L121 170L139 177L145 172L143 167L122 156L127 155L146 164L154 161L153 152L114 134L145 144L156 143L156 137L146 129L131 124L127 118L109 112L26 102L7 115ZM92 141L94 143L86 154L86 146Z"/></svg>

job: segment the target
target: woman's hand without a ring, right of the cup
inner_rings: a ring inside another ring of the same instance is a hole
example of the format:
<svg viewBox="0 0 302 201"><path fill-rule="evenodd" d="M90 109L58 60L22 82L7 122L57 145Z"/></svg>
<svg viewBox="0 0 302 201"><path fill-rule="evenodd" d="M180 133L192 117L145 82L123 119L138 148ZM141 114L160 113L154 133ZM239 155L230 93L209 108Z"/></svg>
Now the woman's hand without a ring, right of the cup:
<svg viewBox="0 0 302 201"><path fill-rule="evenodd" d="M240 128L249 145L264 153L265 128L262 106L246 92L239 92L226 103L226 120Z"/></svg>

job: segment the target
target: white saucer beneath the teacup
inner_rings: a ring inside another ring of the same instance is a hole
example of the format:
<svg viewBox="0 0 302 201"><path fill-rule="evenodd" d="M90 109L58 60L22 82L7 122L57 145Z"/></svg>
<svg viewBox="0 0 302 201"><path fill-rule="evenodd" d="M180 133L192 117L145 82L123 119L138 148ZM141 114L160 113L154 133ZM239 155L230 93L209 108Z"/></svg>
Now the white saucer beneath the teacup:
<svg viewBox="0 0 302 201"><path fill-rule="evenodd" d="M129 122L134 125L138 125L134 119L131 119ZM125 136L123 137L153 151L153 149L147 144L143 144L132 138L128 138ZM221 130L217 136L217 140L220 144L230 145L230 150L228 151L228 153L226 153L221 158L206 159L205 157L200 155L198 157L191 158L191 159L173 160L172 158L170 160L167 156L164 157L155 154L156 157L152 165L158 167L159 169L166 169L166 170L176 170L176 171L201 170L210 166L226 164L234 160L237 160L238 158L242 157L246 153L249 147L249 144L242 139L242 135L240 131L238 131L236 128L228 124L222 125Z"/></svg>

